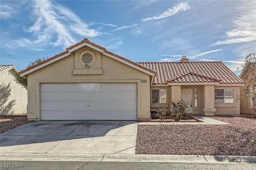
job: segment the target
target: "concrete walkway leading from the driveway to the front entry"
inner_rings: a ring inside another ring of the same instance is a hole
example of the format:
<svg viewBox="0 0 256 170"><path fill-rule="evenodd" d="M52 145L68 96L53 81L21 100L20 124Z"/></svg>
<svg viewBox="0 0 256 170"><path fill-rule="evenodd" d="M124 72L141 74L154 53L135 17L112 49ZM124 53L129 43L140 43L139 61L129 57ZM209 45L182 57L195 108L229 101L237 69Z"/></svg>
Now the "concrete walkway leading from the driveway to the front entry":
<svg viewBox="0 0 256 170"><path fill-rule="evenodd" d="M231 125L230 123L211 119L204 115L190 116L203 122L138 122L138 125Z"/></svg>

